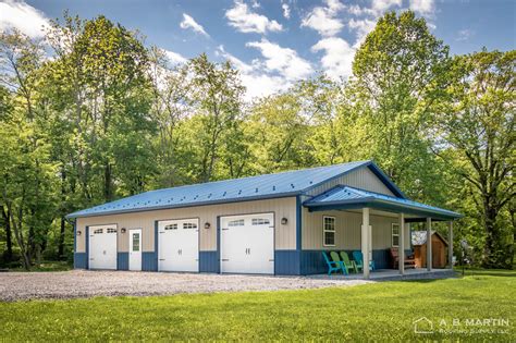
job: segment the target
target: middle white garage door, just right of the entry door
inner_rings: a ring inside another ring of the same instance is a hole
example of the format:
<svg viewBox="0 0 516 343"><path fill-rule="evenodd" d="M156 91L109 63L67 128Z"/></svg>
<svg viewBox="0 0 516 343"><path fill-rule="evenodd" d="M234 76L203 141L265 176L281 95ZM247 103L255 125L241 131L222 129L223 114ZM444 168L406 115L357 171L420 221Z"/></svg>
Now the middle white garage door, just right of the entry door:
<svg viewBox="0 0 516 343"><path fill-rule="evenodd" d="M199 271L199 220L164 220L158 224L160 271Z"/></svg>

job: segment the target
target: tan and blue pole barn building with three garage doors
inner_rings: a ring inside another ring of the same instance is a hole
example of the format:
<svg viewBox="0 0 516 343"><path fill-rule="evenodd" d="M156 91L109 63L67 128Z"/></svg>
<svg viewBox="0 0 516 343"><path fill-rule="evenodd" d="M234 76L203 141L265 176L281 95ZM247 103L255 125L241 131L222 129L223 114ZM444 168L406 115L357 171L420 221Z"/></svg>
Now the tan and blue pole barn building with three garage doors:
<svg viewBox="0 0 516 343"><path fill-rule="evenodd" d="M259 274L323 273L323 250L389 268L394 243L410 247L410 222L430 232L449 221L451 243L459 217L407 199L372 161L150 191L67 216L75 268Z"/></svg>

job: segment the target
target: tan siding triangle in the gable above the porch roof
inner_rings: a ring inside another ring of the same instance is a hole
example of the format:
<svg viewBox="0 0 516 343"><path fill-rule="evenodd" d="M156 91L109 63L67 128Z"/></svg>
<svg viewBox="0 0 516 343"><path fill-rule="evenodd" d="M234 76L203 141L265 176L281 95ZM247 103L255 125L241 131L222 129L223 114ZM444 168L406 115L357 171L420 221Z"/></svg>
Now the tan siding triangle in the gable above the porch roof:
<svg viewBox="0 0 516 343"><path fill-rule="evenodd" d="M363 167L341 177L330 180L316 188L307 192L309 195L318 195L336 185L347 185L370 192L381 193L385 195L394 195L385 184L378 179L377 175L367 167Z"/></svg>

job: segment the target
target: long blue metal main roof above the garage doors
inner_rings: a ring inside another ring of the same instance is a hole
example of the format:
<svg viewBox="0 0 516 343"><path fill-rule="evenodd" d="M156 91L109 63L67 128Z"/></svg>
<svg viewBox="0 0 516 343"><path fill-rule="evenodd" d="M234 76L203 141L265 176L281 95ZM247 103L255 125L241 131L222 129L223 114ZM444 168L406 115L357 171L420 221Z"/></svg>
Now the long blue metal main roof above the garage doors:
<svg viewBox="0 0 516 343"><path fill-rule="evenodd" d="M328 180L366 166L379 169L371 161L358 161L157 189L76 211L67 215L66 218L294 196ZM390 180L384 182L393 185Z"/></svg>

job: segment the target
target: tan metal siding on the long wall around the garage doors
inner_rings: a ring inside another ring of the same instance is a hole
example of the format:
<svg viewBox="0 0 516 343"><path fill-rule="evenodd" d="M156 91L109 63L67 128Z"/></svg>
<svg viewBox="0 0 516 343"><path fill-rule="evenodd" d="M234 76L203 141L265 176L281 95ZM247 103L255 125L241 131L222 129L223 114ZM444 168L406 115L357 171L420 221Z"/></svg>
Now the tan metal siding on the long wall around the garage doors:
<svg viewBox="0 0 516 343"><path fill-rule="evenodd" d="M119 228L119 252L128 250L128 230L142 229L143 252L155 249L155 221L165 219L199 218L200 222L200 250L217 250L217 217L229 215L249 215L259 212L274 212L275 219L275 248L296 248L296 198L277 198L256 201L242 201L232 204L187 207L157 211L143 211L134 213L122 213L111 216L77 218L77 230L82 235L77 236L77 253L85 252L85 232L88 225L116 224ZM281 219L286 218L287 224L282 225ZM205 229L205 223L211 223L210 229ZM121 228L127 231L120 232Z"/></svg>

